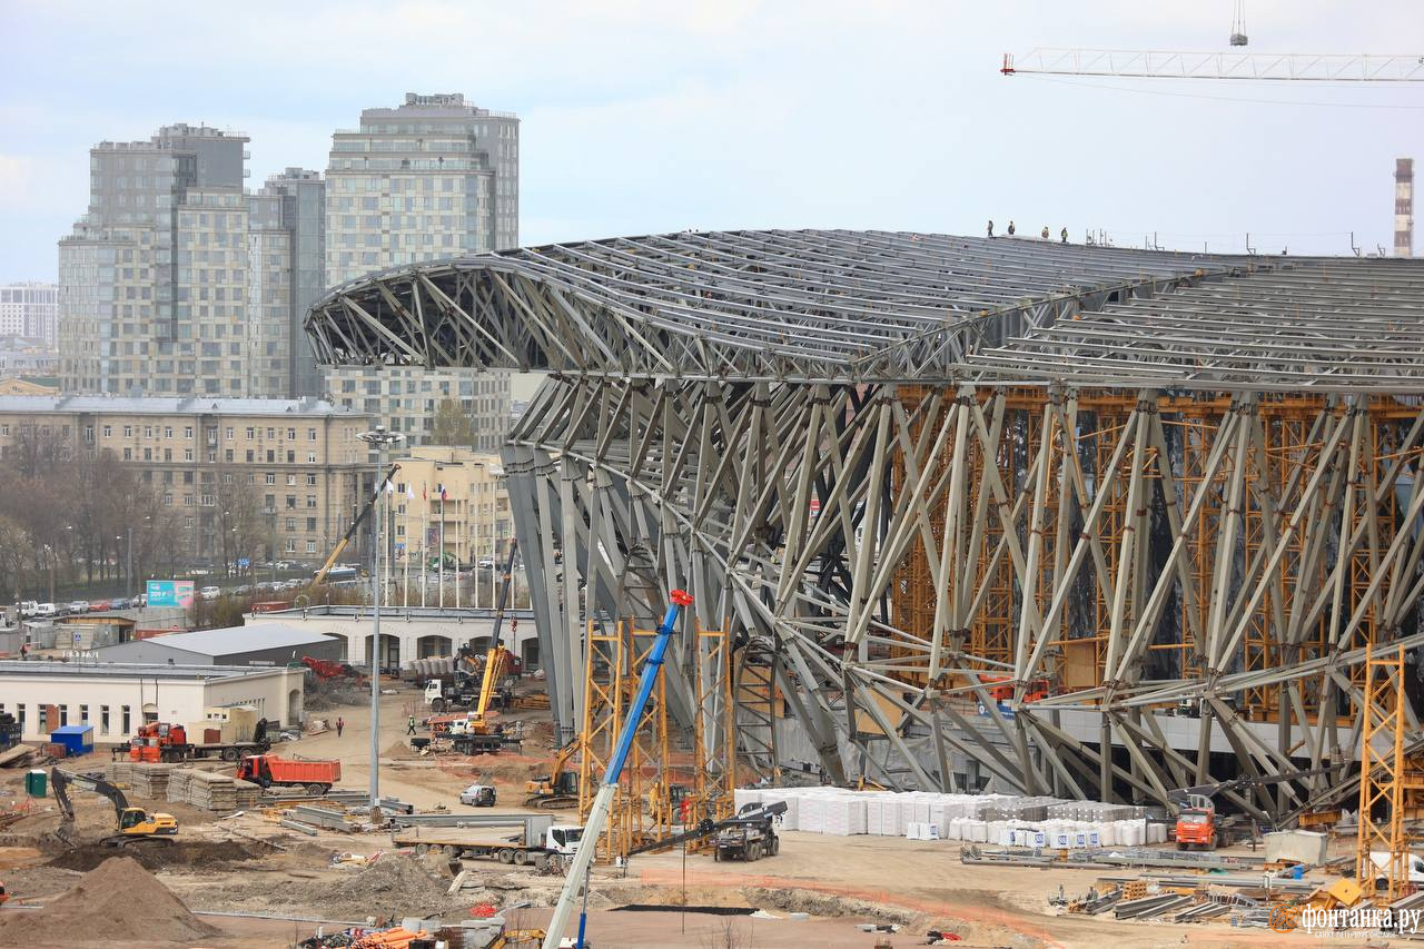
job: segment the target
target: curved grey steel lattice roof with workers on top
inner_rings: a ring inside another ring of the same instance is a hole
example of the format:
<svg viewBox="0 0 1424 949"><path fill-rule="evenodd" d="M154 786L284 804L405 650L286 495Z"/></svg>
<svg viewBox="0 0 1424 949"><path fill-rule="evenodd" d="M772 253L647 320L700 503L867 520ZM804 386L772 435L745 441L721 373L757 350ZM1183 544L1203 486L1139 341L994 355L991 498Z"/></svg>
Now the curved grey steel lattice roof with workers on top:
<svg viewBox="0 0 1424 949"><path fill-rule="evenodd" d="M396 268L308 332L335 365L1424 392L1421 313L1413 261L735 231Z"/></svg>

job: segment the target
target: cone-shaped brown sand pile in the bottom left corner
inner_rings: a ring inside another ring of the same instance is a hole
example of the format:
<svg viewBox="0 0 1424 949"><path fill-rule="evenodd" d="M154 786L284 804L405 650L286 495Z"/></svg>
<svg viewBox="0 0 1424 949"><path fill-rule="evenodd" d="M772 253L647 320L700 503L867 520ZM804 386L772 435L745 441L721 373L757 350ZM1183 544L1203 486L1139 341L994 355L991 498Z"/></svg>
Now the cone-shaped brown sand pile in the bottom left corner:
<svg viewBox="0 0 1424 949"><path fill-rule="evenodd" d="M3 945L54 945L56 933L90 942L188 942L218 935L130 856L111 856L44 909L0 919Z"/></svg>

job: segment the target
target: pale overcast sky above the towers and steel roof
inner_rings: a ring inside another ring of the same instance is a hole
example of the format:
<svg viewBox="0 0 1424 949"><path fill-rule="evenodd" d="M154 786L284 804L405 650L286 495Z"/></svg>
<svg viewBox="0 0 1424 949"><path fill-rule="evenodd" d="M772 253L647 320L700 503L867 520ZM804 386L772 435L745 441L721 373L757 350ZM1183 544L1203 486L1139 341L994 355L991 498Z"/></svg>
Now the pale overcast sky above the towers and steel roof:
<svg viewBox="0 0 1424 949"><path fill-rule="evenodd" d="M1391 244L1424 85L998 74L1035 46L1226 48L1230 0L0 0L0 281L54 279L87 150L161 124L252 135L253 187L325 170L333 128L406 91L521 120L523 244L684 228L1141 245ZM1247 0L1252 50L1421 53L1424 4ZM1300 104L1306 103L1306 104ZM1421 168L1424 172L1424 168Z"/></svg>

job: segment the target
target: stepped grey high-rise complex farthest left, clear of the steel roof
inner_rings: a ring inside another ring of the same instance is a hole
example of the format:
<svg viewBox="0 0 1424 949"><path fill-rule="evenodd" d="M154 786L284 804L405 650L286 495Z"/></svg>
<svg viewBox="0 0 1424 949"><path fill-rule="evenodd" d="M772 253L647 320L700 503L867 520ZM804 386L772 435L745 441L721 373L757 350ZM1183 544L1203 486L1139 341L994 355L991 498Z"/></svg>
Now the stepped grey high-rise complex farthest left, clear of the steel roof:
<svg viewBox="0 0 1424 949"><path fill-rule="evenodd" d="M293 345L293 311L300 288L322 275L298 272L286 192L245 191L246 144L179 124L90 151L88 212L60 241L66 390L315 395L299 388L305 346ZM316 172L293 171L283 178L320 184ZM305 264L318 259L308 254Z"/></svg>

